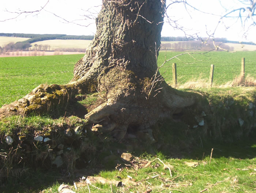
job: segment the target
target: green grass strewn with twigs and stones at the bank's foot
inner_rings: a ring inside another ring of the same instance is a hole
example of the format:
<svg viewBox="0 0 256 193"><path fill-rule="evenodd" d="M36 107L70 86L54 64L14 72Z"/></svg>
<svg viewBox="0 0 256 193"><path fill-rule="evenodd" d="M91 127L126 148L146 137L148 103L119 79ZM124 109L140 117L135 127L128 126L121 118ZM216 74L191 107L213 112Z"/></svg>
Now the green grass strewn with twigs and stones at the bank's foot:
<svg viewBox="0 0 256 193"><path fill-rule="evenodd" d="M210 163L211 148L214 148ZM112 185L113 193L135 193L135 192L146 192L152 190L152 192L163 192L163 193L199 193L202 190L206 192L237 192L237 193L253 193L256 188L256 149L252 143L242 144L208 144L204 148L197 148L196 152L193 152L192 157L200 155L200 158L191 158L185 156L183 159L177 158L166 158L161 152L156 155L141 154L137 157L137 161L132 162L125 166L121 164L122 169L113 170L102 170L95 173L94 176L101 176L108 180L119 180L123 181L127 178L127 175L133 179L142 181L137 186L124 186L116 187ZM250 154L250 155L249 155ZM169 170L163 169L163 164L159 160L155 160L150 164L149 167L144 167L146 161L139 162L139 160L154 160L155 158L161 159L165 164L172 166L172 177L170 176ZM189 167L185 165L185 162L197 162L198 166ZM139 169L136 169L137 166ZM44 174L46 176L54 176L60 174ZM79 178L74 179L78 189L75 189L73 180L68 182L65 178L59 177L58 182L56 178L52 178L52 182L47 181L49 177L44 177L41 173L33 174L33 178L38 181L42 181L39 185L29 182L29 179L25 179L22 183L23 186L12 185L10 186L10 192L38 192L44 193L58 193L57 189L59 185L64 182L76 193L87 193L89 189L86 182L79 182ZM155 178L151 178L158 175ZM121 179L120 179L121 177ZM43 179L46 178L46 179ZM42 186L44 184L44 186ZM47 185L48 184L48 185ZM7 187L9 183L7 183ZM27 186L27 188L26 188ZM6 187L6 188L7 188ZM45 188L43 188L45 187ZM4 193L7 193L7 189ZM30 188L30 190L29 190ZM93 183L89 185L90 192L103 192L111 193L111 186L109 184ZM100 190L99 190L100 189Z"/></svg>

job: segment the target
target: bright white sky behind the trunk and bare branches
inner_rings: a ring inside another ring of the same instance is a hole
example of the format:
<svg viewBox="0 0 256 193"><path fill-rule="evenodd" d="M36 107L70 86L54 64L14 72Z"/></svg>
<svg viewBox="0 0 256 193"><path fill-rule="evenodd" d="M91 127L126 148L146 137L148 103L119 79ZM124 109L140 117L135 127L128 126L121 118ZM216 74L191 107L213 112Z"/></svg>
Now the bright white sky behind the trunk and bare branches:
<svg viewBox="0 0 256 193"><path fill-rule="evenodd" d="M0 33L95 34L96 26L94 20L88 19L84 15L90 14L91 18L95 18L101 9L101 0L49 0L49 3L46 4L47 1L1 0ZM168 2L171 1L167 0L167 4ZM187 0L187 2L200 11L189 6L185 9L184 5L180 3L170 6L167 9L167 14L172 20L177 20L186 29L187 34L197 33L200 37L207 37L207 33L211 34L215 30L220 17L229 12L229 10L247 6L241 4L238 0ZM45 4L46 6L44 7ZM21 14L19 16L17 14L17 12L22 11L37 11L42 7L44 7L44 10L40 12ZM90 10L90 13L88 10ZM18 17L16 18L16 16ZM237 16L237 13L230 16ZM1 22L3 20L5 21ZM237 20L237 18L225 18L224 22L219 24L215 37L256 43L254 35L256 34L256 27L251 29L245 37L240 20ZM226 30L225 26L229 27L229 29ZM245 29L248 29L247 26L245 26ZM177 37L184 36L184 33L181 30L173 29L165 22L161 35Z"/></svg>

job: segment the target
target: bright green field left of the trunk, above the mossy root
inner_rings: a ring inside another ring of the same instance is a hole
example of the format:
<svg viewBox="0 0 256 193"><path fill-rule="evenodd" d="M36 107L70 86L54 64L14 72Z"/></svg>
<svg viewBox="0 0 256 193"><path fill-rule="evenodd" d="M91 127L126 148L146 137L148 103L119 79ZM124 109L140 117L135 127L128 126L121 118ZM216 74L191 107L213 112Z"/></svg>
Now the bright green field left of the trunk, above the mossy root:
<svg viewBox="0 0 256 193"><path fill-rule="evenodd" d="M0 106L22 98L39 84L68 83L74 64L82 57L83 54L0 58Z"/></svg>

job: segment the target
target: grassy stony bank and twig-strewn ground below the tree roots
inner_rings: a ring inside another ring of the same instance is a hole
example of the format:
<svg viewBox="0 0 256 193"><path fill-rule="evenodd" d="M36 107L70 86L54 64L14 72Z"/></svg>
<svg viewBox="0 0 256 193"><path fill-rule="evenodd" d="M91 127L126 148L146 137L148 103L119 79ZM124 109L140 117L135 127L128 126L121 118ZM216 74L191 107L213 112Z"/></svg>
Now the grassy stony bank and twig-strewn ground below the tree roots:
<svg viewBox="0 0 256 193"><path fill-rule="evenodd" d="M255 88L193 92L204 96L196 106L121 142L68 114L2 120L1 190L55 193L65 183L77 193L255 192ZM90 109L101 97L79 96L76 107ZM124 162L123 152L134 159Z"/></svg>

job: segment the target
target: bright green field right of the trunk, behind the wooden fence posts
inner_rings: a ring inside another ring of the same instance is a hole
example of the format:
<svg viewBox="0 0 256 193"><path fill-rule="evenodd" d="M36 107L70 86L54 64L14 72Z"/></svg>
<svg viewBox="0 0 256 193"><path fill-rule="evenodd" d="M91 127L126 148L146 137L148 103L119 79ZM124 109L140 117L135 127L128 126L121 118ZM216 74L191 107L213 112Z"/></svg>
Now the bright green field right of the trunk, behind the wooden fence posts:
<svg viewBox="0 0 256 193"><path fill-rule="evenodd" d="M158 66L168 58L172 58L183 52L161 51L158 57ZM177 80L179 84L190 80L209 80L210 66L214 64L214 83L219 85L233 80L240 75L241 58L245 58L245 76L250 74L256 77L256 54L255 52L210 52L206 54L185 54L178 59L167 62L160 72L167 82L172 83L172 63L177 64Z"/></svg>

